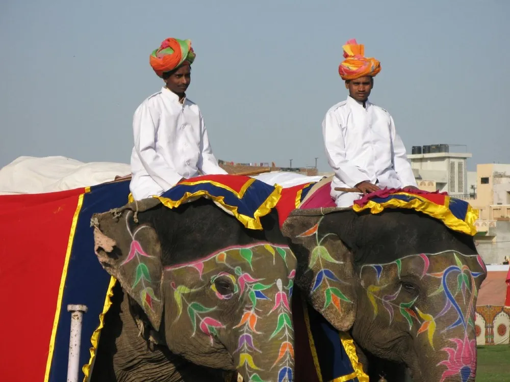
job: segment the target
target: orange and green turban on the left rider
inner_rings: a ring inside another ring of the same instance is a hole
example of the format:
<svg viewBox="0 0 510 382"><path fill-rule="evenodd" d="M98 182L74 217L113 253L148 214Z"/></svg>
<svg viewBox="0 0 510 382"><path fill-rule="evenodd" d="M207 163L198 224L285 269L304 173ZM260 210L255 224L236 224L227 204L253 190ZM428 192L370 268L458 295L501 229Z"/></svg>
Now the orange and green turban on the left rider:
<svg viewBox="0 0 510 382"><path fill-rule="evenodd" d="M191 65L195 61L195 52L190 40L167 38L161 46L150 54L149 63L160 77L183 64Z"/></svg>

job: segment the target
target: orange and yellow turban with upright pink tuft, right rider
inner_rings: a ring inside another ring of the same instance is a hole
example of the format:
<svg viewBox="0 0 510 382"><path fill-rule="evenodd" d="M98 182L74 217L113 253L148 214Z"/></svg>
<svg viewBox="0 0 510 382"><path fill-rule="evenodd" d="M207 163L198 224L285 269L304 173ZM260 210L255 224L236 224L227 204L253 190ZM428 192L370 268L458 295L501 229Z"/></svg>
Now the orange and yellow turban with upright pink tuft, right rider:
<svg viewBox="0 0 510 382"><path fill-rule="evenodd" d="M342 46L344 58L338 67L338 73L343 80L364 76L375 77L381 71L381 64L374 58L365 57L365 45L356 40L349 40Z"/></svg>

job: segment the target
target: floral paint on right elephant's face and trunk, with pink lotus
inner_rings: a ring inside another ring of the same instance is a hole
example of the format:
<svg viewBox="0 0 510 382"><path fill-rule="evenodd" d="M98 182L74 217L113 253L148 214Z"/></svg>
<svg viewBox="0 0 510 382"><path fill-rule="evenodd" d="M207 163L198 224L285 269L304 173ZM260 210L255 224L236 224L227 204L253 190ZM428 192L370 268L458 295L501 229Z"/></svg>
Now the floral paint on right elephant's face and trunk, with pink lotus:
<svg viewBox="0 0 510 382"><path fill-rule="evenodd" d="M405 274L402 269L406 269ZM411 333L426 336L425 341L433 349L441 345L439 350L447 356L437 364L446 368L441 382L450 376L467 381L476 369L476 339L474 335L470 338L474 333L478 293L475 279L483 275L484 269L479 255L445 251L363 265L360 279L372 304L374 319L385 314L390 324L404 322ZM426 299L418 295L411 298L403 290L406 280L413 278L432 287L427 288Z"/></svg>

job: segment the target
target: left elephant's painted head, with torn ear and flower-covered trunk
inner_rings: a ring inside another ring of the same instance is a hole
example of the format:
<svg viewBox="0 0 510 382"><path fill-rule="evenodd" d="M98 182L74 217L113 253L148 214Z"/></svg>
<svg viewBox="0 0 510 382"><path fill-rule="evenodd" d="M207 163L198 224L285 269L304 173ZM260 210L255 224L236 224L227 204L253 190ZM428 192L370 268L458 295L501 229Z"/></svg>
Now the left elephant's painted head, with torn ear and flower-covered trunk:
<svg viewBox="0 0 510 382"><path fill-rule="evenodd" d="M292 380L296 259L287 245L207 201L137 204L93 217L95 248L160 344L245 380Z"/></svg>

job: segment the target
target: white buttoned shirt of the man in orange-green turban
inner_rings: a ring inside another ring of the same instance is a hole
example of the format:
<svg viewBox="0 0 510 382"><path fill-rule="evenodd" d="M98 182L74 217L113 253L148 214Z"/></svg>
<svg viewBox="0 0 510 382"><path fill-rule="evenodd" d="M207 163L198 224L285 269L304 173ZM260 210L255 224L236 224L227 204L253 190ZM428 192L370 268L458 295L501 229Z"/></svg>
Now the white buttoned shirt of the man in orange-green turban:
<svg viewBox="0 0 510 382"><path fill-rule="evenodd" d="M131 193L136 200L161 195L181 178L226 174L218 165L198 105L163 87L133 117Z"/></svg>

